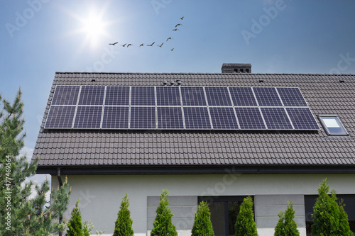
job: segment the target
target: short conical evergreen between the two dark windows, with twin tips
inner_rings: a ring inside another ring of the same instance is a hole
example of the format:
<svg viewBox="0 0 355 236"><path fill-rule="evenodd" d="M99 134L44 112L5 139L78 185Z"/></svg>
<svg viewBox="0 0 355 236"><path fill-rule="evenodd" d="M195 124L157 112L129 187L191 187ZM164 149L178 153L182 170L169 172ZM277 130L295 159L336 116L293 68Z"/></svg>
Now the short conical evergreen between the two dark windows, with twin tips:
<svg viewBox="0 0 355 236"><path fill-rule="evenodd" d="M293 210L293 203L288 201L288 208L283 213L280 210L278 213L278 225L275 227L275 236L300 236L300 232L297 230L297 224L293 218L295 218L295 210Z"/></svg>

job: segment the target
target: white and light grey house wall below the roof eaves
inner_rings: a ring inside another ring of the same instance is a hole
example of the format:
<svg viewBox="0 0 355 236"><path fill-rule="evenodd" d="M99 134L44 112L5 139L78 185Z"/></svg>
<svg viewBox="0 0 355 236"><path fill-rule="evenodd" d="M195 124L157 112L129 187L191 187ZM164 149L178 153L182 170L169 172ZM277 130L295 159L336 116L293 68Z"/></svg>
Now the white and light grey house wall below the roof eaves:
<svg viewBox="0 0 355 236"><path fill-rule="evenodd" d="M80 198L82 220L92 220L93 232L104 230L106 235L112 235L121 199L128 193L135 235L147 235L152 227L157 197L162 189L168 189L175 213L173 222L180 236L190 233L190 229L183 228L183 225L191 226L197 196L248 195L255 199L256 224L260 236L273 235L278 211L285 210L289 200L294 203L295 220L301 235L305 235L303 195L317 194L320 181L326 177L330 189L336 189L339 194L355 194L355 174L229 174L226 169L226 174L218 175L68 176L72 194L65 219L70 218L70 212ZM52 186L57 189L57 176L53 176Z"/></svg>

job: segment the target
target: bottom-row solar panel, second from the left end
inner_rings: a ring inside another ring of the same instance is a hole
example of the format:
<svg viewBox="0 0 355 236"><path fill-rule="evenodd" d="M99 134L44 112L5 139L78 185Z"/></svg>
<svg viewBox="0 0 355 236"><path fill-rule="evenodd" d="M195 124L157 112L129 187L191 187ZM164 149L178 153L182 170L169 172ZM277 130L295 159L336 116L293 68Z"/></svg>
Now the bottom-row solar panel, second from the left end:
<svg viewBox="0 0 355 236"><path fill-rule="evenodd" d="M74 128L99 129L102 106L78 106Z"/></svg>

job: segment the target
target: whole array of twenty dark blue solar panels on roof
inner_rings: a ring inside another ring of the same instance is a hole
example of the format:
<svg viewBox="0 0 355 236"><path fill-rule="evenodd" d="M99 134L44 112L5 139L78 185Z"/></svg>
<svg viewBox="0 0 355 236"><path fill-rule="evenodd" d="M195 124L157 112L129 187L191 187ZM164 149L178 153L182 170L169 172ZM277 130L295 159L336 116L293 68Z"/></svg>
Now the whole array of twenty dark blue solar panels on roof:
<svg viewBox="0 0 355 236"><path fill-rule="evenodd" d="M319 130L295 87L62 86L48 129Z"/></svg>

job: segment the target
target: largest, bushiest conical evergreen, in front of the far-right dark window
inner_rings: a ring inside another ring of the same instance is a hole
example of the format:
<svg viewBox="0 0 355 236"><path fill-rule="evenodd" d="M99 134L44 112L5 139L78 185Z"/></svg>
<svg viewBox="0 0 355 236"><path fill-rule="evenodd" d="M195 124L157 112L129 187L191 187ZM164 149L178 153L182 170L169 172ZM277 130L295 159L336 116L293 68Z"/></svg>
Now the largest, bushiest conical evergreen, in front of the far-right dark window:
<svg viewBox="0 0 355 236"><path fill-rule="evenodd" d="M313 206L312 235L344 235L353 236L349 227L348 215L344 210L342 201L337 203L337 193L334 189L328 195L329 186L324 179L318 189L318 198Z"/></svg>

